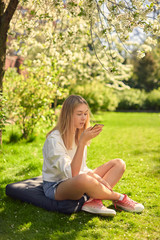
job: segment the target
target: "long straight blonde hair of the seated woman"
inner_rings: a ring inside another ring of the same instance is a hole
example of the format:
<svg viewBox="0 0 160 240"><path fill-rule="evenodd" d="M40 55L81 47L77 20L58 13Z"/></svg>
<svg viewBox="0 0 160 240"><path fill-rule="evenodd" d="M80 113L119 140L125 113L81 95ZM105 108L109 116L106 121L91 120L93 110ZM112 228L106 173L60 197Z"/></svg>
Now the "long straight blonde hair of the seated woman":
<svg viewBox="0 0 160 240"><path fill-rule="evenodd" d="M87 101L83 97L79 95L70 95L62 105L62 109L59 115L57 125L47 134L47 137L48 137L48 135L52 131L59 130L67 149L70 149L73 144L73 135L72 135L72 133L74 132L73 112L79 104L86 104L88 106ZM88 110L89 110L89 106L88 106ZM83 129L76 130L76 133L75 133L76 144L78 143L81 133L87 127L89 127L89 124L90 124L90 111L88 111L87 121Z"/></svg>

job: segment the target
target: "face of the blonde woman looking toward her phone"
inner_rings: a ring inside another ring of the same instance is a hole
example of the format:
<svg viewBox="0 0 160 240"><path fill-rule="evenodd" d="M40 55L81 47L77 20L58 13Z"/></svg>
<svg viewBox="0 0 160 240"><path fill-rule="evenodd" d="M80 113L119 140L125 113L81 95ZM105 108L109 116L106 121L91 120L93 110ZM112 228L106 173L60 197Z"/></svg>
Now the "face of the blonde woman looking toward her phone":
<svg viewBox="0 0 160 240"><path fill-rule="evenodd" d="M89 114L88 106L84 103L79 104L73 112L73 123L75 130L82 129L87 121Z"/></svg>

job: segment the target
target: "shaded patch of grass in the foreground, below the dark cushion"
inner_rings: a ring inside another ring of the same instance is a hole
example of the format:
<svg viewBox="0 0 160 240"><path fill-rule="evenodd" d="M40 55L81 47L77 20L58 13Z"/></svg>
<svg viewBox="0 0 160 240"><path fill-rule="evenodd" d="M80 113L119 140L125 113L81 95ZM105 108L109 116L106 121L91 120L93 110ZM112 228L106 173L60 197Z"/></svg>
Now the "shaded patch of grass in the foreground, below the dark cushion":
<svg viewBox="0 0 160 240"><path fill-rule="evenodd" d="M5 195L5 182L0 188L0 239L74 240L96 228L94 221L113 221L111 217L101 217L85 212L71 215L49 212L34 205L14 200ZM101 239L101 233L92 232L93 238ZM97 235L98 234L98 235ZM96 235L96 236L95 236Z"/></svg>

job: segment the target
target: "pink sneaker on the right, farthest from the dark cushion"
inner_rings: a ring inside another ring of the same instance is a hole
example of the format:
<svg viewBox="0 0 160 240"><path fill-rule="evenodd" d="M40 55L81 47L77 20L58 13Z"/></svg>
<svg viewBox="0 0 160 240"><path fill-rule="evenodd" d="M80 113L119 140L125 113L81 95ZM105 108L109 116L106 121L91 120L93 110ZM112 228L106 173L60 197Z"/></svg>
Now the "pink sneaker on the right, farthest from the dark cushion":
<svg viewBox="0 0 160 240"><path fill-rule="evenodd" d="M126 194L124 194L124 198L122 201L113 201L115 208L120 207L128 212L142 212L144 206L141 203L137 203L130 199Z"/></svg>

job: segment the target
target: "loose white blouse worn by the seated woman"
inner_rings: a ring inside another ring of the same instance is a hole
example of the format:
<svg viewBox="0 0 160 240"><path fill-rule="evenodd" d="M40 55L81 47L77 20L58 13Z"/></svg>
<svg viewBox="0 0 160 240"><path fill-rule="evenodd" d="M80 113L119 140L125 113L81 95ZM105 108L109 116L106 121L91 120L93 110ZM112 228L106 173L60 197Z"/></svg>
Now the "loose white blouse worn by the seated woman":
<svg viewBox="0 0 160 240"><path fill-rule="evenodd" d="M77 150L74 143L72 149L67 150L58 130L54 130L47 137L43 146L43 168L44 181L57 182L72 178L71 162ZM91 172L86 165L87 146L85 146L82 165L79 174Z"/></svg>

